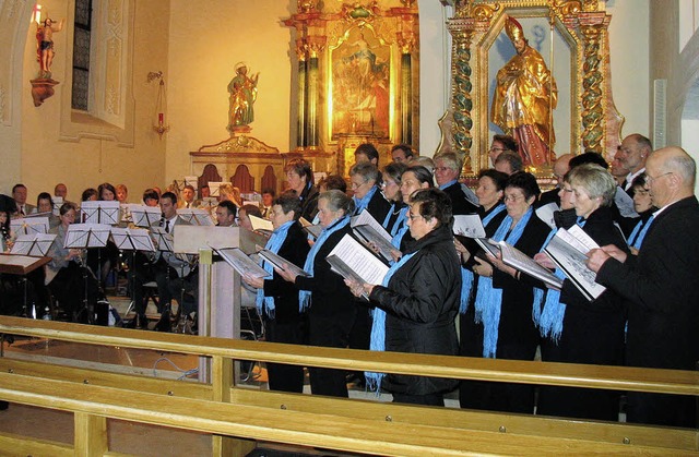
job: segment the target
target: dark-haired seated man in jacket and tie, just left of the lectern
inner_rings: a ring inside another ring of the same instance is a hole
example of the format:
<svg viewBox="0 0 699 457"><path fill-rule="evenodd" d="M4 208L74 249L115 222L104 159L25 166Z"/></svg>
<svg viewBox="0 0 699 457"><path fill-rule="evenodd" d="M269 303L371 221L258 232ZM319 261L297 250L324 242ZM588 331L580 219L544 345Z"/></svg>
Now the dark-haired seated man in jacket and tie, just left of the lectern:
<svg viewBox="0 0 699 457"><path fill-rule="evenodd" d="M164 228L167 233L173 233L175 226L190 225L177 214L177 196L171 192L165 192L161 196L161 211L163 217L155 225ZM188 257L182 258L171 252L163 252L155 262L155 282L161 308L158 328L167 329L174 297L179 303L180 315L197 312L199 276Z"/></svg>

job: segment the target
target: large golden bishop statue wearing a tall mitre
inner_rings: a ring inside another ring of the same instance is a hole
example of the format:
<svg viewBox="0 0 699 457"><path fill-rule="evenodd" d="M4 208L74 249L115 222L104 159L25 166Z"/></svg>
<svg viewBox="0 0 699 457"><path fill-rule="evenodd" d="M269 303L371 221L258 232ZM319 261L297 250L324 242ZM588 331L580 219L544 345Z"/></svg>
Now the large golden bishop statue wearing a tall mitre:
<svg viewBox="0 0 699 457"><path fill-rule="evenodd" d="M505 32L517 53L498 71L490 120L517 139L525 166L553 164L556 82L541 53L529 46L517 20L508 16Z"/></svg>

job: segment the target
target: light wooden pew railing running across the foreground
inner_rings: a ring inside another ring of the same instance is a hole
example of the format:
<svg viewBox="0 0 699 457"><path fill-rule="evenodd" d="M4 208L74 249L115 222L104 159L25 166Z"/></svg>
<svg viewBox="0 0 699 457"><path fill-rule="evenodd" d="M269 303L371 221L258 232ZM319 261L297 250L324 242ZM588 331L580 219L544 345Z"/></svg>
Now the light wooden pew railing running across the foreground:
<svg viewBox="0 0 699 457"><path fill-rule="evenodd" d="M72 411L73 445L0 435L24 455L115 455L107 418L212 435L213 455L245 455L256 441L377 455L699 454L697 430L411 407L241 388L234 360L463 380L507 381L699 396L699 373L624 366L376 353L146 333L0 317L0 333L211 359L211 383L178 382L0 358L0 399Z"/></svg>

